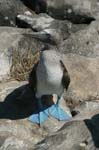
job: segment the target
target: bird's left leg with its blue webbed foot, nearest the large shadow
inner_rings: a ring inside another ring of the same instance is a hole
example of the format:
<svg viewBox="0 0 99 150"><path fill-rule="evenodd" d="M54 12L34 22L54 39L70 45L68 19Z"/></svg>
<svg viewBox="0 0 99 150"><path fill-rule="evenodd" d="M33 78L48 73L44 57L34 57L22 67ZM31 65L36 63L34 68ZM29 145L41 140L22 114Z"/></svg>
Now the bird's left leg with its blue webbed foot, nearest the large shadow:
<svg viewBox="0 0 99 150"><path fill-rule="evenodd" d="M29 120L41 125L44 121L48 119L48 108L46 109L43 107L41 98L37 99L37 103L38 103L38 111L37 113L31 115L29 117Z"/></svg>

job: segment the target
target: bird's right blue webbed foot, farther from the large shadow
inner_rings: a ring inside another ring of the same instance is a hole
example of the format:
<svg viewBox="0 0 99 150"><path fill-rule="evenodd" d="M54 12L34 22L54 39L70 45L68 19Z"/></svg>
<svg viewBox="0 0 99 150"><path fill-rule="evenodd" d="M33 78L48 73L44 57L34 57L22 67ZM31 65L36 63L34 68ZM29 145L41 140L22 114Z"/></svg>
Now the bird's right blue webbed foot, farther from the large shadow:
<svg viewBox="0 0 99 150"><path fill-rule="evenodd" d="M49 113L52 115L54 118L58 119L59 121L69 121L71 117L62 109L60 108L57 104L52 105L49 108Z"/></svg>

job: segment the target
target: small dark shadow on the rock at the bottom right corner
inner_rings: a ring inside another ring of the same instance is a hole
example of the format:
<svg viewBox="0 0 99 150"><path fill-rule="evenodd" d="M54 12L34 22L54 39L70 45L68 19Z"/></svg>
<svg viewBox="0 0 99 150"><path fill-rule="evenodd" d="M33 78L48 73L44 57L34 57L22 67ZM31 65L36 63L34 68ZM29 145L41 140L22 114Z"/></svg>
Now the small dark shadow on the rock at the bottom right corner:
<svg viewBox="0 0 99 150"><path fill-rule="evenodd" d="M92 119L86 119L85 124L91 132L94 145L99 148L99 114L92 117Z"/></svg>

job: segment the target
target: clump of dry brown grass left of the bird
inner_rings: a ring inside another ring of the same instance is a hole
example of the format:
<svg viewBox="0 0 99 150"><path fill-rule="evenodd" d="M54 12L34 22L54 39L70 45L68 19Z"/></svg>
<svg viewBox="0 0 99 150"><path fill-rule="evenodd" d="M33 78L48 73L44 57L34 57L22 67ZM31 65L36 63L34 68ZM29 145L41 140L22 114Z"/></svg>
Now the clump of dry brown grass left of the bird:
<svg viewBox="0 0 99 150"><path fill-rule="evenodd" d="M20 51L14 50L12 52L12 66L10 70L11 78L24 81L28 79L29 73L33 68L33 65L39 59L39 52L32 54L32 50L27 50L22 56Z"/></svg>

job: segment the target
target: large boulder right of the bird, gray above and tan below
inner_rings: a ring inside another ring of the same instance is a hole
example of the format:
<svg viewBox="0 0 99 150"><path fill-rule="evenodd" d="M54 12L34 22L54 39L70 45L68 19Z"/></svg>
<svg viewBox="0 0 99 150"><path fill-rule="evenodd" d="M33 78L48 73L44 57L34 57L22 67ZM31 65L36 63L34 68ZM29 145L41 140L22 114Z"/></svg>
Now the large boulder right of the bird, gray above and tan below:
<svg viewBox="0 0 99 150"><path fill-rule="evenodd" d="M64 53L64 63L71 76L70 89L66 94L69 101L99 99L98 24L95 21L73 33L60 45L59 51Z"/></svg>

